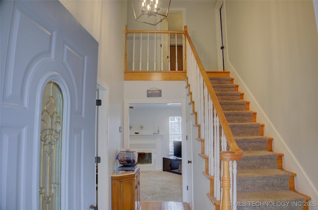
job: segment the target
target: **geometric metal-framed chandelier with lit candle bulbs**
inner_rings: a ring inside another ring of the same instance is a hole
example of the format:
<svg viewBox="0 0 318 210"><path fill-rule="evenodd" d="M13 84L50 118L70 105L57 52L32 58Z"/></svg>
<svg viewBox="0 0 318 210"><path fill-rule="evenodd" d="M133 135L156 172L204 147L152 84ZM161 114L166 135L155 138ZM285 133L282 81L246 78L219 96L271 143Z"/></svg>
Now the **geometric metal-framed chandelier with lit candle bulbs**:
<svg viewBox="0 0 318 210"><path fill-rule="evenodd" d="M131 0L135 20L157 25L168 15L171 0ZM160 11L160 8L163 11ZM139 12L136 12L139 11Z"/></svg>

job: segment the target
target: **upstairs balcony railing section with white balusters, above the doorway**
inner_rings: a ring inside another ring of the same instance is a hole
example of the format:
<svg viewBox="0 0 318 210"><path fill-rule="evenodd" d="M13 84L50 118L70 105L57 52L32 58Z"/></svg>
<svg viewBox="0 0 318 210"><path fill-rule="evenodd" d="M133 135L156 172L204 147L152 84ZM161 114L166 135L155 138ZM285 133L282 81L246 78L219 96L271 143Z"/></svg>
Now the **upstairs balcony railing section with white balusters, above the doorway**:
<svg viewBox="0 0 318 210"><path fill-rule="evenodd" d="M184 80L185 31L128 30L125 80Z"/></svg>

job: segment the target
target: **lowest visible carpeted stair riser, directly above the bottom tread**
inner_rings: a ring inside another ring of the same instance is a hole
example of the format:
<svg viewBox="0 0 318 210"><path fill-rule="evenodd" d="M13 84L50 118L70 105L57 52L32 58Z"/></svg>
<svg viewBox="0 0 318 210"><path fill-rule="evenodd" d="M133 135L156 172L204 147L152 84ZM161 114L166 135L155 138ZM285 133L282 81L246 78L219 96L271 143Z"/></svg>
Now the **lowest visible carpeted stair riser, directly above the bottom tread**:
<svg viewBox="0 0 318 210"><path fill-rule="evenodd" d="M237 192L289 190L288 178L237 180Z"/></svg>

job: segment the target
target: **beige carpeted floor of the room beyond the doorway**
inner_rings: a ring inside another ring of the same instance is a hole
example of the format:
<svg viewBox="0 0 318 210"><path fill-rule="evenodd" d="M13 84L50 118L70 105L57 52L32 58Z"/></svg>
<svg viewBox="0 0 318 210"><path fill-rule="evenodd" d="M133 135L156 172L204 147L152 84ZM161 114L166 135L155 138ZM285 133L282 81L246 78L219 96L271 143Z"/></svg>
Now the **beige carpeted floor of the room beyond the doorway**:
<svg viewBox="0 0 318 210"><path fill-rule="evenodd" d="M182 176L166 171L141 171L140 200L182 201Z"/></svg>

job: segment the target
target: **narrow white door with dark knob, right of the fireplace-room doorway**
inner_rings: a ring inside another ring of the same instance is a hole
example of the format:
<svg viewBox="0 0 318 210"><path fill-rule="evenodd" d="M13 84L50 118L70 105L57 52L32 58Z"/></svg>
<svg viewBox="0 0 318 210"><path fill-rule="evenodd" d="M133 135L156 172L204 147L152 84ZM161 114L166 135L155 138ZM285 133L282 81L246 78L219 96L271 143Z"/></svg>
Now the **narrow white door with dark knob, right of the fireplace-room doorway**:
<svg viewBox="0 0 318 210"><path fill-rule="evenodd" d="M192 167L192 121L187 122L187 200L191 210L193 210L193 167Z"/></svg>

